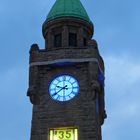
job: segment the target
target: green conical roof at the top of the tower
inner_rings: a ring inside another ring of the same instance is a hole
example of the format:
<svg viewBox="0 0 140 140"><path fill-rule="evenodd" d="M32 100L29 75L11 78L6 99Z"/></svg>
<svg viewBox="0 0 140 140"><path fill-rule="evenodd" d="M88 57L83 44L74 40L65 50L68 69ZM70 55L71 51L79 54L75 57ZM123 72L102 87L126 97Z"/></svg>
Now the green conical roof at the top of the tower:
<svg viewBox="0 0 140 140"><path fill-rule="evenodd" d="M47 21L61 17L76 17L90 22L80 0L56 0L47 16Z"/></svg>

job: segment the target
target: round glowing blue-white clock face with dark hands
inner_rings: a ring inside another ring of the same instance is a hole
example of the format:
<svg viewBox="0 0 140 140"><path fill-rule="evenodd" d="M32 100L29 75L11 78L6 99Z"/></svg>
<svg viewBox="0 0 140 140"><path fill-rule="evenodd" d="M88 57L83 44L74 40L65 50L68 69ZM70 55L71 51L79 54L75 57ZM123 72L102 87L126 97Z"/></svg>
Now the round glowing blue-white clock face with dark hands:
<svg viewBox="0 0 140 140"><path fill-rule="evenodd" d="M70 75L60 75L49 85L50 96L57 101L68 101L74 98L78 91L78 81Z"/></svg>

